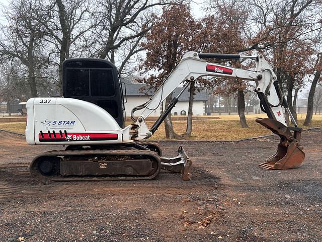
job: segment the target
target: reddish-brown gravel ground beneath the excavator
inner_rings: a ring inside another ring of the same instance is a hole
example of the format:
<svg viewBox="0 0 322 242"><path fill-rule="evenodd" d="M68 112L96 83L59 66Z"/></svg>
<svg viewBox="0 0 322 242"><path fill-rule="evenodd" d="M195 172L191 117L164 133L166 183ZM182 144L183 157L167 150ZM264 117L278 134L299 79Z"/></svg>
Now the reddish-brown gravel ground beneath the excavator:
<svg viewBox="0 0 322 242"><path fill-rule="evenodd" d="M305 131L302 166L262 170L278 138L183 145L192 179L38 183L30 161L62 146L0 132L0 241L322 241L322 130ZM203 223L206 226L200 226Z"/></svg>

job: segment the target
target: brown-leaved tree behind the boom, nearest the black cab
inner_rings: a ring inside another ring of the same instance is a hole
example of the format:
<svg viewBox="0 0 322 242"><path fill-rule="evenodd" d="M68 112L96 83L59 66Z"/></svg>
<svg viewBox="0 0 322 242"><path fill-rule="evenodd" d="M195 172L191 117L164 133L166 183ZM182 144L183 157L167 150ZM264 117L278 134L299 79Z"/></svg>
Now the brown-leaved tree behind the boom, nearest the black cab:
<svg viewBox="0 0 322 242"><path fill-rule="evenodd" d="M178 24L178 22L182 22ZM167 80L171 72L179 63L183 54L189 50L193 41L196 27L190 8L185 5L164 8L164 12L157 19L151 32L146 36L147 41L142 46L147 49L146 59L141 70L155 70L157 75L150 75L142 81L152 87L159 86ZM190 100L193 100L194 82L190 84ZM172 102L172 94L166 98L166 106ZM185 137L191 135L192 130L192 104L189 103L190 114ZM166 137L169 139L182 139L175 133L172 126L171 113L165 119Z"/></svg>

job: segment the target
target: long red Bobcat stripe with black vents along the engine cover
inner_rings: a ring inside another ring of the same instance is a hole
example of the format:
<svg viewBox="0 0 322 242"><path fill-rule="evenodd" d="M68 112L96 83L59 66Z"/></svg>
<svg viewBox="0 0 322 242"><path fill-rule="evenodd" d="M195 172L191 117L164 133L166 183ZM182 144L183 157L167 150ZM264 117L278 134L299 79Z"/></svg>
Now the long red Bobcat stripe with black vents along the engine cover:
<svg viewBox="0 0 322 242"><path fill-rule="evenodd" d="M39 133L39 142L61 142L61 141L101 141L101 140L117 140L117 134L106 133Z"/></svg>

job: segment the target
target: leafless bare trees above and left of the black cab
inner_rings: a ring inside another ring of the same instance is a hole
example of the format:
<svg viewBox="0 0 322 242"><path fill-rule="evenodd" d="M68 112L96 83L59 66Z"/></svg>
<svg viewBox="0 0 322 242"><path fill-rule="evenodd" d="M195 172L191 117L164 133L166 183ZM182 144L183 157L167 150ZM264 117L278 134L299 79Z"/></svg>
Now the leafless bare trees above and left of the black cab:
<svg viewBox="0 0 322 242"><path fill-rule="evenodd" d="M2 8L6 19L0 32L2 71L12 77L7 82L24 87L25 98L61 93L66 58L107 58L118 63L120 73L126 73L126 64L142 50L141 40L151 29L158 7L169 4L144 0L12 1ZM21 96L13 92L9 96Z"/></svg>

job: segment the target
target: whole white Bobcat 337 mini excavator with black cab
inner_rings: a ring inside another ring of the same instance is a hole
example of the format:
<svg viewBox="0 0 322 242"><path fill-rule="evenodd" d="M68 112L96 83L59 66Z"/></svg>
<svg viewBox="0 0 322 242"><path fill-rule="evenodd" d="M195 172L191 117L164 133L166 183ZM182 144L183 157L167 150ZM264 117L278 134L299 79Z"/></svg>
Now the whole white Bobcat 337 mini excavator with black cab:
<svg viewBox="0 0 322 242"><path fill-rule="evenodd" d="M206 59L250 59L254 71L237 69ZM190 179L192 161L179 147L176 157L162 156L151 137L178 102L189 82L199 77L254 81L261 108L268 118L256 122L279 135L277 152L260 164L265 169L290 169L304 160L301 131L278 86L277 77L263 55L187 52L169 78L144 104L133 108L133 123L125 123L126 91L116 67L105 59L75 58L63 63L63 97L38 97L27 101L26 141L30 145L64 145L65 150L36 156L30 166L35 178L51 180L152 179L161 169L181 172ZM182 91L151 128L145 119L178 86ZM295 127L287 127L282 106ZM140 111L138 116L134 112Z"/></svg>

